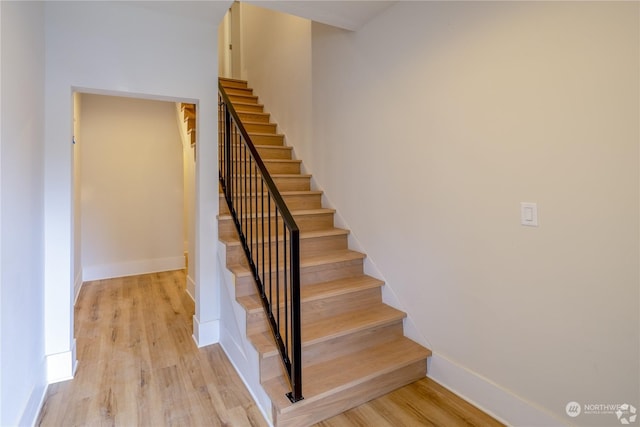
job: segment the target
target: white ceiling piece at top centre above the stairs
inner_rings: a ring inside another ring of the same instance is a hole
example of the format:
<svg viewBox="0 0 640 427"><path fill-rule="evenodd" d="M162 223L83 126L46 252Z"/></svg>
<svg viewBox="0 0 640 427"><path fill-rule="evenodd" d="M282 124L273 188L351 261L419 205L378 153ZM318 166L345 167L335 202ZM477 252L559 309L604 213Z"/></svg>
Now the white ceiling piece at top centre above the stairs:
<svg viewBox="0 0 640 427"><path fill-rule="evenodd" d="M307 18L346 30L356 31L377 14L396 3L395 1L261 1L252 0L251 3L266 9Z"/></svg>

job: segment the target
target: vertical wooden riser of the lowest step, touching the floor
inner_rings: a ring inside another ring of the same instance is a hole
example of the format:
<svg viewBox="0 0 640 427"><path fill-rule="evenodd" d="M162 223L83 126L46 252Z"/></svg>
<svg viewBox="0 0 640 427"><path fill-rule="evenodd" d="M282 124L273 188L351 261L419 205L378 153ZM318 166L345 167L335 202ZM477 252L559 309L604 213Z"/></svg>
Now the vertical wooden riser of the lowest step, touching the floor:
<svg viewBox="0 0 640 427"><path fill-rule="evenodd" d="M369 400L387 394L397 388L410 384L427 374L424 360L415 362L401 369L371 378L354 387L345 388L326 396L322 401L316 400L305 404L298 402L297 411L278 413L273 408L274 425L278 427L303 427L315 424L329 417L361 405ZM312 404L309 404L312 403ZM304 405L304 408L303 406Z"/></svg>

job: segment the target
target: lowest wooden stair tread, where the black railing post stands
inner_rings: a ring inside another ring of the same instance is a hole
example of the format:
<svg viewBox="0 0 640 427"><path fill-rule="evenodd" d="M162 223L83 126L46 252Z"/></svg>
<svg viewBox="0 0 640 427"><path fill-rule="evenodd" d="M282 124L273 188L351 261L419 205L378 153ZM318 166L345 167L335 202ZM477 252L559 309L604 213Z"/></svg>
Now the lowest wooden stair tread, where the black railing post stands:
<svg viewBox="0 0 640 427"><path fill-rule="evenodd" d="M406 337L306 367L302 383L304 400L292 404L285 394L289 384L283 377L264 383L264 388L280 413L304 410L304 406L335 393L364 383L401 366L425 360L431 351Z"/></svg>

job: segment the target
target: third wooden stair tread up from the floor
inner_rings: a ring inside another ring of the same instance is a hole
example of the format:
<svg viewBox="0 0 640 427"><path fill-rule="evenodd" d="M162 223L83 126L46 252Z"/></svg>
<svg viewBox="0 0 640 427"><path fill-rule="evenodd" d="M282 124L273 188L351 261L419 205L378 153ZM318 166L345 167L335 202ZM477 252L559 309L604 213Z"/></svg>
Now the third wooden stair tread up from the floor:
<svg viewBox="0 0 640 427"><path fill-rule="evenodd" d="M302 286L300 288L300 301L303 303L310 302L327 297L346 295L351 292L376 288L383 285L384 282L382 280L365 274L361 276L331 280L311 286ZM238 297L237 300L248 313L259 312L262 310L262 302L257 294Z"/></svg>

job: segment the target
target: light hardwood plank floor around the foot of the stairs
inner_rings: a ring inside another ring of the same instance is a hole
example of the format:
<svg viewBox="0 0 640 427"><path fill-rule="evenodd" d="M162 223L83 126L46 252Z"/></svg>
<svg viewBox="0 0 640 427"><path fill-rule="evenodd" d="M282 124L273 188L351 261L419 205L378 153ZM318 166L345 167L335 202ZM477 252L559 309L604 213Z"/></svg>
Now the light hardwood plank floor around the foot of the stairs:
<svg viewBox="0 0 640 427"><path fill-rule="evenodd" d="M75 310L78 370L38 425L268 425L221 347L193 342L182 270L85 283ZM316 426L468 425L501 424L425 378Z"/></svg>

